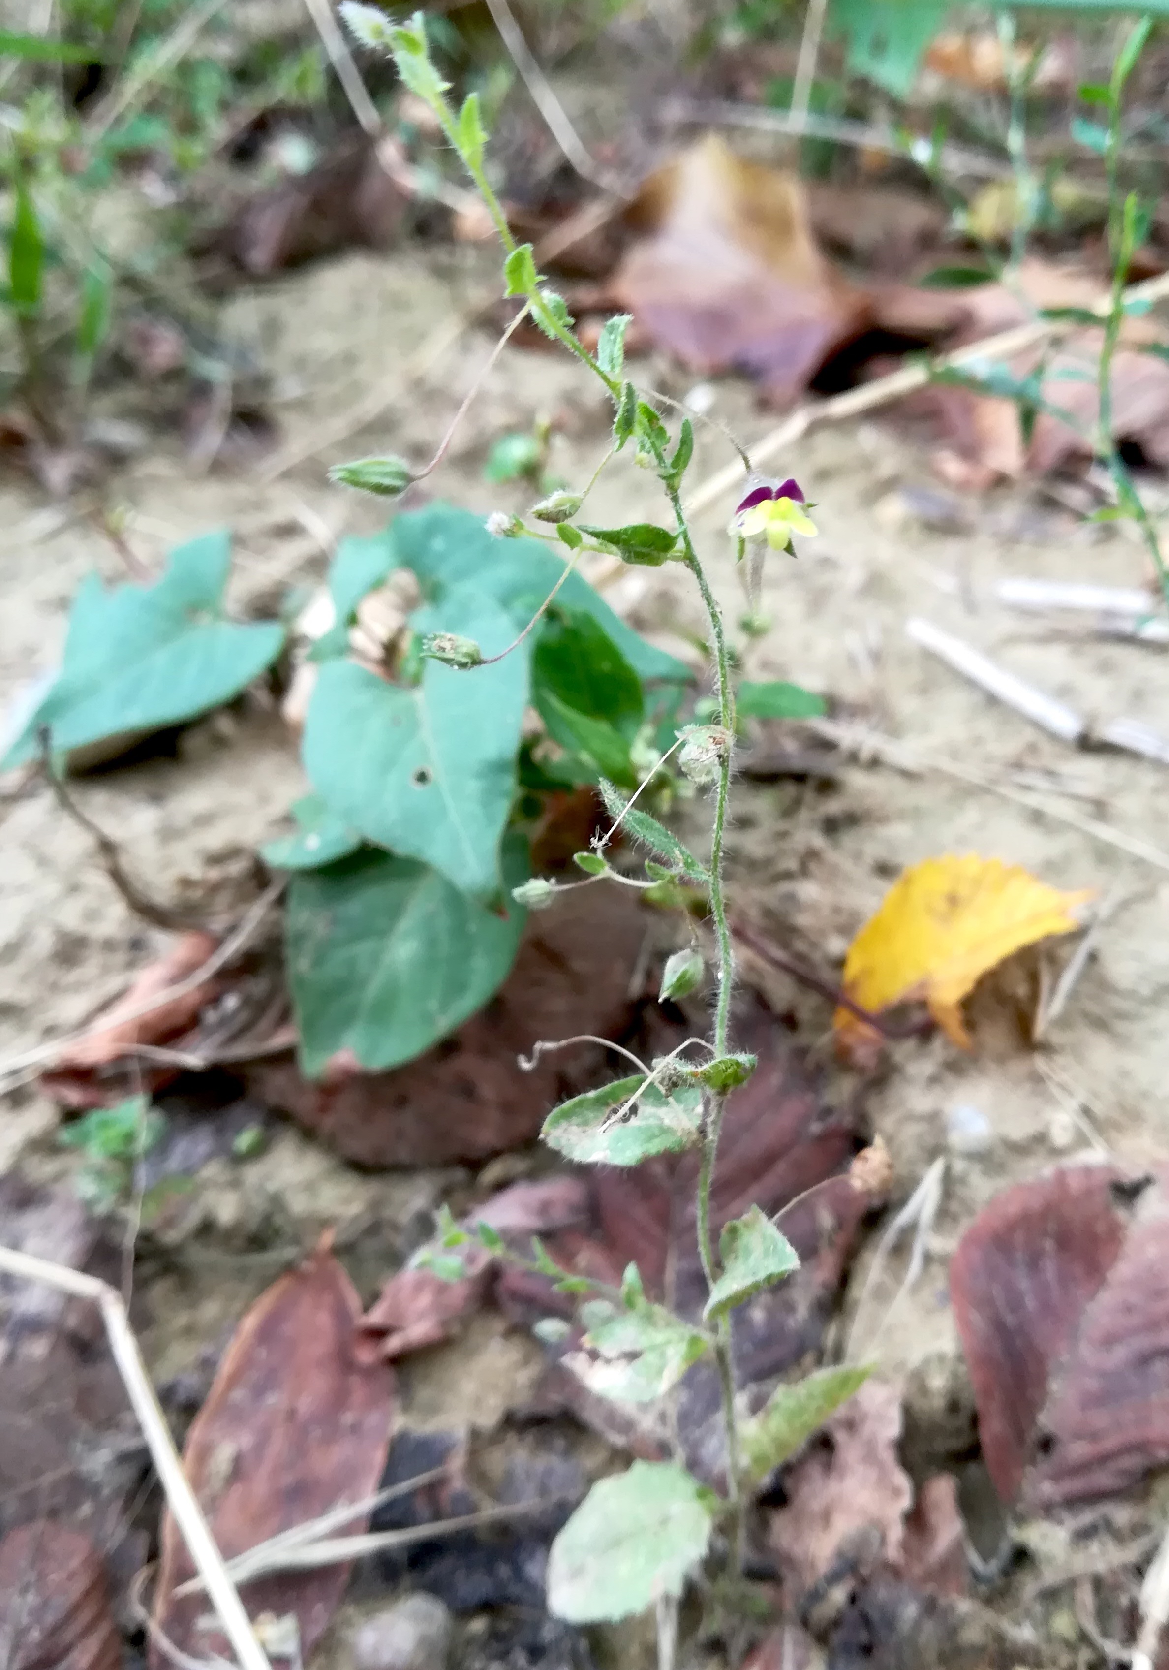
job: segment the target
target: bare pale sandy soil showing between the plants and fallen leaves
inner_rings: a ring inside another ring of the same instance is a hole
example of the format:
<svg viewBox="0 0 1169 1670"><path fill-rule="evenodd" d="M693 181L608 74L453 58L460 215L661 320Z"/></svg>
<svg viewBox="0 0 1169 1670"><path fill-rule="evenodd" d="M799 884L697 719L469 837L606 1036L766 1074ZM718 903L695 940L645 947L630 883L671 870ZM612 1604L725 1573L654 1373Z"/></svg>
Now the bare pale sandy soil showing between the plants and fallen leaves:
<svg viewBox="0 0 1169 1670"><path fill-rule="evenodd" d="M419 344L426 347L429 332L468 306L483 276L476 252L411 250L351 256L240 296L230 309L232 329L274 379L281 456L307 456L262 479L192 478L165 448L144 454L115 484L135 546L152 559L209 524L230 523L239 531L234 584L244 608L271 600L274 590L319 579L326 556L314 544L317 534L377 523L376 506L327 486L324 466L382 449L428 454L489 344L469 334L446 352L431 352L431 364L412 384L402 379L402 357L414 356L416 364L426 357ZM688 387L666 366L640 371L670 392ZM346 414L377 391L386 402L382 414L331 439ZM561 428L554 468L583 479L605 444L600 399L558 357L511 352L433 479L434 494L476 509L518 503L511 489L484 486L481 461L494 434L524 428L539 412L554 416ZM733 382L716 386L713 416L746 438L767 424L750 392ZM725 458L725 443L703 433L696 479ZM793 678L830 695L842 713L903 743L922 768L910 773L862 753L843 763L838 782L827 788L741 783L730 840L740 908L818 967L835 969L888 882L927 855L974 850L1000 857L1059 887L1094 887L1112 905L1096 955L1040 1052L1024 1039L1012 982L999 980L975 1000L970 1054L942 1037L898 1044L872 1087L873 1129L893 1157L895 1197L903 1201L937 1157L945 1157L947 1171L917 1289L877 1331L903 1268L895 1264L867 1301L862 1333L872 1331L882 1371L910 1374L910 1403L917 1399L940 1420L939 1399L954 1388L955 1374L960 1379L945 1258L974 1211L1004 1184L1080 1147L1107 1147L1134 1161L1169 1151L1169 1032L1162 1024L1169 840L1164 858L1154 863L1077 823L1097 820L1157 847L1164 767L1116 753L1077 753L1052 741L908 643L903 623L924 615L1094 718L1131 715L1164 731L1169 666L1157 651L1060 636L994 601L994 583L1004 574L1114 584L1144 579L1136 544L1114 529L1077 524L1040 491L1004 491L954 513L924 498L920 489L930 486L925 454L885 426L823 433L783 461L788 469L818 501L822 538L805 543L798 561L768 561L763 611L772 626L746 646L746 671ZM0 503L8 528L0 695L8 698L52 666L77 579L94 563L115 573L117 558L84 521L47 511L32 489L8 483ZM630 468L615 468L596 494L595 519L601 523L656 511L655 483ZM728 506L716 506L698 519L696 531L733 620L743 603L726 513ZM620 578L610 596L638 626L676 645L680 633L700 628L685 579L673 571L633 573ZM955 780L947 767L994 788ZM84 782L78 798L159 892L192 897L209 873L224 885L244 873L247 853L277 830L299 783L296 748L279 720L259 701L245 701L190 731L177 758L107 772ZM8 800L2 838L0 1044L7 1054L77 1025L145 960L150 945L92 863L85 838L42 788ZM1052 952L1052 967L1064 959L1064 950ZM1015 987L1022 989L1020 982L1022 975ZM772 984L777 1002L808 1017L812 1035L823 1034L828 1014L820 999L785 977ZM970 1106L987 1122L985 1146L974 1154L959 1152L947 1139L947 1116ZM20 1092L0 1131L0 1167L12 1164L22 1146L45 1156L50 1126L52 1111L33 1091ZM257 1187L282 1196L306 1239L339 1219L342 1246L346 1226L356 1246L369 1214L381 1214L379 1254L401 1244L418 1214L458 1181L443 1174L359 1177L292 1132L256 1162L256 1176ZM222 1199L237 1184L229 1167L212 1167L199 1187ZM247 1227L247 1209L239 1211ZM224 1214L230 1222L230 1211L224 1207ZM240 1227L239 1214L234 1227ZM364 1273L372 1283L372 1258ZM267 1274L234 1279L229 1313ZM853 1276L853 1304L863 1276L865 1259ZM154 1356L165 1373L175 1373L184 1354L215 1333L207 1311L199 1309L210 1303L210 1289L207 1269L190 1271L180 1288L167 1289L172 1298L184 1296L190 1326L155 1341ZM461 1353L459 1364L468 1351L478 1353L476 1363L494 1354L489 1383L506 1403L503 1388L526 1383L524 1349L498 1329L481 1333L451 1349ZM441 1408L434 1403L429 1413L449 1425L471 1418L469 1408L451 1404L451 1398L458 1403L451 1386L473 1376L444 1374L446 1366L429 1358L409 1371L406 1384L407 1401L421 1413L441 1386Z"/></svg>

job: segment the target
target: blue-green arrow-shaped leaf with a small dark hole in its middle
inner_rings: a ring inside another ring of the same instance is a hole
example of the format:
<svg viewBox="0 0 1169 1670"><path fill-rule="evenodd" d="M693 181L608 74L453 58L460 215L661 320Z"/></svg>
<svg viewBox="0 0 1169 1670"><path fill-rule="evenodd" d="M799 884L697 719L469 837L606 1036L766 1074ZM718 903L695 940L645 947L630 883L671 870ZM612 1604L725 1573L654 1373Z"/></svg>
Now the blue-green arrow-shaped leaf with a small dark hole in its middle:
<svg viewBox="0 0 1169 1670"><path fill-rule="evenodd" d="M481 593L418 610L419 635L473 638L484 655L514 640ZM433 865L478 897L499 887L499 837L516 792L528 706L528 643L493 666L424 661L418 685L389 685L356 661L326 661L304 726L304 768L337 817L367 840Z"/></svg>

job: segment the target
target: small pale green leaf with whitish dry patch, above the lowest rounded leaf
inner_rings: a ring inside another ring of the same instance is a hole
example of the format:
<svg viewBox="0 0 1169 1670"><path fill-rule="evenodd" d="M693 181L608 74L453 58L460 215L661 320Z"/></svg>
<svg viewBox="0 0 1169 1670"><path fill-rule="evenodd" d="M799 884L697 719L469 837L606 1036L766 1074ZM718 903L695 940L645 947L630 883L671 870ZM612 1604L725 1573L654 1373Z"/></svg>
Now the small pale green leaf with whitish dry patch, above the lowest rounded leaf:
<svg viewBox="0 0 1169 1670"><path fill-rule="evenodd" d="M581 1321L588 1329L583 1344L596 1356L574 1353L569 1366L590 1391L615 1403L663 1398L710 1349L705 1334L645 1298L631 1308L591 1299L581 1306Z"/></svg>

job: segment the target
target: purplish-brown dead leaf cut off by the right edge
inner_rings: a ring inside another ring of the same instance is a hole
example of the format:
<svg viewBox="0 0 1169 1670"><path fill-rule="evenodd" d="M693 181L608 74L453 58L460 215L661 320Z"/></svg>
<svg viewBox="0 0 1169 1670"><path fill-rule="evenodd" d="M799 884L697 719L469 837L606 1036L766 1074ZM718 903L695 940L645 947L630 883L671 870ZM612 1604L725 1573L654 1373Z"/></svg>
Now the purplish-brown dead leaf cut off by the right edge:
<svg viewBox="0 0 1169 1670"><path fill-rule="evenodd" d="M1022 1498L1049 1510L1114 1496L1169 1461L1169 1194L1162 1171L1089 1299L1037 1423Z"/></svg>

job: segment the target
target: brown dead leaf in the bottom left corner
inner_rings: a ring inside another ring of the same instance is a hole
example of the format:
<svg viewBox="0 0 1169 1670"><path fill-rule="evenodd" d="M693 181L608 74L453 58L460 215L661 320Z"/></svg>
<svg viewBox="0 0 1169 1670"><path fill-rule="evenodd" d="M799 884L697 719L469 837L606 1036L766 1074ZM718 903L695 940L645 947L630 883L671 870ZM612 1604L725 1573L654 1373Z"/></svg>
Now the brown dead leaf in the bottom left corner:
<svg viewBox="0 0 1169 1670"><path fill-rule="evenodd" d="M5 1670L120 1670L105 1571L80 1531L33 1520L0 1543Z"/></svg>

